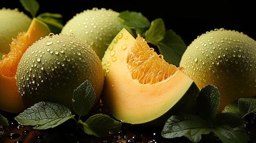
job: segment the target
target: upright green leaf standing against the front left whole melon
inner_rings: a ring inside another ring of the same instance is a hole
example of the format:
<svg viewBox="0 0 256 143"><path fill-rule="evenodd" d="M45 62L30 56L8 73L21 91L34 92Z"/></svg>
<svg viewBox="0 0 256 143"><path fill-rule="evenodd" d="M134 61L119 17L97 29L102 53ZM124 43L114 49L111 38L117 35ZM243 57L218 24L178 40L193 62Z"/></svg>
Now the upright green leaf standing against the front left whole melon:
<svg viewBox="0 0 256 143"><path fill-rule="evenodd" d="M88 80L74 90L72 105L74 112L79 115L79 118L89 113L95 98L94 89Z"/></svg>

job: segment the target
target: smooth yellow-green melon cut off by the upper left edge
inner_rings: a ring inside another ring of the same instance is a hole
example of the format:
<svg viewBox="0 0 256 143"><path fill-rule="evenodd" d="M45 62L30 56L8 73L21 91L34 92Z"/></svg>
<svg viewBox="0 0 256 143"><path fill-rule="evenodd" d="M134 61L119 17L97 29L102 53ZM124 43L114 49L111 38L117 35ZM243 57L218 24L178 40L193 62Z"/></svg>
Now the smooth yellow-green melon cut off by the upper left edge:
<svg viewBox="0 0 256 143"><path fill-rule="evenodd" d="M9 53L11 38L27 31L31 18L18 10L0 9L0 53Z"/></svg>

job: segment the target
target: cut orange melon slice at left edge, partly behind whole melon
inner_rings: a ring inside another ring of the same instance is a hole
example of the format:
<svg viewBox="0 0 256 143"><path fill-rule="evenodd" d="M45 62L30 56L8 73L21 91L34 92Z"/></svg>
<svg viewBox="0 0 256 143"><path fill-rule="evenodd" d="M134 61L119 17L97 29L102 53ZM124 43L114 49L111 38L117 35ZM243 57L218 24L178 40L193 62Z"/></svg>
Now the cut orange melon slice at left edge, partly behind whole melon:
<svg viewBox="0 0 256 143"><path fill-rule="evenodd" d="M16 86L16 70L18 62L26 49L40 37L50 33L49 27L34 18L27 32L18 33L11 42L10 52L0 60L0 110L18 113L25 110L25 105L18 95Z"/></svg>

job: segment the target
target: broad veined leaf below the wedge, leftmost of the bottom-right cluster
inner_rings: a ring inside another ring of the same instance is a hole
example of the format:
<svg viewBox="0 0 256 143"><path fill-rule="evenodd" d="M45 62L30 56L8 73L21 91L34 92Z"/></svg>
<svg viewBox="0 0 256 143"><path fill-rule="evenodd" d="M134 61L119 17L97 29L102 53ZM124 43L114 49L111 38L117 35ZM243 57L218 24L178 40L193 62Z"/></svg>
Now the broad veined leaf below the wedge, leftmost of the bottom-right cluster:
<svg viewBox="0 0 256 143"><path fill-rule="evenodd" d="M190 141L199 142L202 134L209 134L211 130L205 121L195 114L180 114L171 116L162 130L164 138L186 136Z"/></svg>

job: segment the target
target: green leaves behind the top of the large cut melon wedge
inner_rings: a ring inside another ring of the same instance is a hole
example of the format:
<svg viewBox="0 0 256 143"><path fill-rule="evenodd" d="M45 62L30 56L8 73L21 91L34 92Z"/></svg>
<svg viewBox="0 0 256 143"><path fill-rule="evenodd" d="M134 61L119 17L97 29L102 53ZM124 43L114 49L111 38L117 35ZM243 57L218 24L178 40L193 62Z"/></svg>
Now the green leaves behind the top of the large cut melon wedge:
<svg viewBox="0 0 256 143"><path fill-rule="evenodd" d="M134 37L137 34L145 37L148 43L157 46L166 62L179 66L186 44L173 30L166 31L162 18L150 23L141 13L134 11L123 11L119 14L119 18Z"/></svg>

